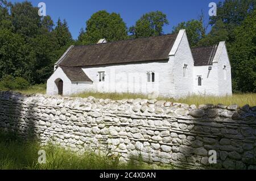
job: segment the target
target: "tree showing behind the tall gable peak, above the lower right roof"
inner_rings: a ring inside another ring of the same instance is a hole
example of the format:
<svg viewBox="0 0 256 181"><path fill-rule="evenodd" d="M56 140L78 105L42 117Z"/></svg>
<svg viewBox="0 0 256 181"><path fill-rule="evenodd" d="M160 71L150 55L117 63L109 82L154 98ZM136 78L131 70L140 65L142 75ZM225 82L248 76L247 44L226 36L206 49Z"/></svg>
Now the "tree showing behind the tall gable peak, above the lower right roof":
<svg viewBox="0 0 256 181"><path fill-rule="evenodd" d="M195 19L189 20L188 22L181 22L173 29L174 30L172 31L172 33L178 33L179 30L185 29L191 47L195 47L195 45L205 34L205 32L202 32L202 30L204 30L203 24L199 22L199 20Z"/></svg>

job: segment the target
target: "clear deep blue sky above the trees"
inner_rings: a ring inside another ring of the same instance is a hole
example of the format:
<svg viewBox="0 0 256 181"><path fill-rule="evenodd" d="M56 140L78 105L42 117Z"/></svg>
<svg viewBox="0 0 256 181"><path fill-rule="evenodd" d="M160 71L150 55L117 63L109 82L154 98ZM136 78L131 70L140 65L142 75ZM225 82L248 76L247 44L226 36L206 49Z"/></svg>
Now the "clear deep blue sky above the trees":
<svg viewBox="0 0 256 181"><path fill-rule="evenodd" d="M10 0L9 0L10 1ZM66 19L73 39L77 39L79 31L85 27L86 20L99 10L117 12L121 15L127 27L135 22L146 12L162 11L170 22L164 26L164 33L170 33L172 27L190 19L198 19L201 10L205 19L209 19L209 3L222 0L31 0L32 5L38 6L39 2L46 3L46 14L50 15L56 23L58 18ZM22 2L22 0L11 0Z"/></svg>

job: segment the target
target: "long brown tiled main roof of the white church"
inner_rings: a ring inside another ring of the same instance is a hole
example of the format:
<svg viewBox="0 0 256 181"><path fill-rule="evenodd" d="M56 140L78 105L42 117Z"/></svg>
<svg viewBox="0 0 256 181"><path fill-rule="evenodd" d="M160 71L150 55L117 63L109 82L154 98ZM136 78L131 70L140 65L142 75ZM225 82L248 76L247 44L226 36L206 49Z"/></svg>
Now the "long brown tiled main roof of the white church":
<svg viewBox="0 0 256 181"><path fill-rule="evenodd" d="M73 47L60 66L93 66L168 60L177 34Z"/></svg>

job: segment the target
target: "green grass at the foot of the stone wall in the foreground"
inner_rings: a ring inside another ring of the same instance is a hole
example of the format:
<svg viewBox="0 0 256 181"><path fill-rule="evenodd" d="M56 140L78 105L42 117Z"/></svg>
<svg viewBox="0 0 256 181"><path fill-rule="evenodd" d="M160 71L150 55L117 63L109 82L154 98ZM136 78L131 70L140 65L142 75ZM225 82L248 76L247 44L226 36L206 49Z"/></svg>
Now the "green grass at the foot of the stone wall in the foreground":
<svg viewBox="0 0 256 181"><path fill-rule="evenodd" d="M46 163L38 163L38 151L46 151ZM4 170L138 170L174 169L172 165L157 166L131 160L121 163L117 156L99 155L92 152L77 154L59 146L40 146L36 140L19 140L13 134L0 133L0 169Z"/></svg>

